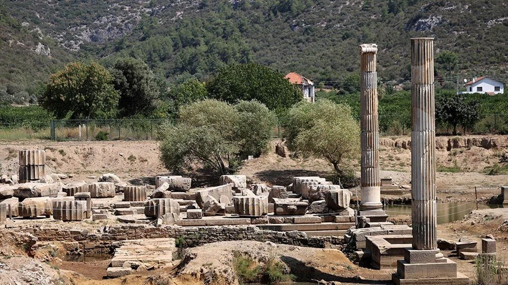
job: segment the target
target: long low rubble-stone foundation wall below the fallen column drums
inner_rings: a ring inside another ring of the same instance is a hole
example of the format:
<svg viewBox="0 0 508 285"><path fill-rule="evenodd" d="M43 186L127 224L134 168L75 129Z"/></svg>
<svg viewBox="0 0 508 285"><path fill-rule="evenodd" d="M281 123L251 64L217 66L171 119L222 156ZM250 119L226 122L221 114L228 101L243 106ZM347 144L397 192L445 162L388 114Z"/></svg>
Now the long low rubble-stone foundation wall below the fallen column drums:
<svg viewBox="0 0 508 285"><path fill-rule="evenodd" d="M342 244L342 236L308 237L304 232L277 232L261 230L256 226L213 226L213 227L179 227L147 225L104 226L96 231L65 229L58 227L25 227L28 232L40 241L78 241L87 243L115 242L139 238L179 238L185 246L194 247L205 243L228 240L272 241L275 243L293 244L323 248L326 244Z"/></svg>

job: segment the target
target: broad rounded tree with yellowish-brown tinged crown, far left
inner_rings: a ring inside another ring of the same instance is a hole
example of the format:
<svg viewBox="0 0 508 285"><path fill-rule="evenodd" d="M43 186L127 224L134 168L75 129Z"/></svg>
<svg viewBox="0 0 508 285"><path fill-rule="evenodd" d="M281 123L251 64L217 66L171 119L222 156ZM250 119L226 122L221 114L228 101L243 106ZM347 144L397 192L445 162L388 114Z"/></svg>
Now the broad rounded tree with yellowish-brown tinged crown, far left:
<svg viewBox="0 0 508 285"><path fill-rule="evenodd" d="M39 103L58 119L112 117L118 105L112 81L97 62L72 62L50 76Z"/></svg>

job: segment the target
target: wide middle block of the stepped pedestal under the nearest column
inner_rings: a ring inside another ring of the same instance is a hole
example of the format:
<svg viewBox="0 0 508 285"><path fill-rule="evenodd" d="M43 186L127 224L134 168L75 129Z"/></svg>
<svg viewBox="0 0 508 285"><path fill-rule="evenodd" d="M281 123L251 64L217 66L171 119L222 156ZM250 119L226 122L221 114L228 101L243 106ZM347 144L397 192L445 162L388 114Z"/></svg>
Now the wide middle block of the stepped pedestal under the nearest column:
<svg viewBox="0 0 508 285"><path fill-rule="evenodd" d="M457 277L457 264L448 258L444 258L444 260L446 262L416 264L399 260L397 274L401 279Z"/></svg>

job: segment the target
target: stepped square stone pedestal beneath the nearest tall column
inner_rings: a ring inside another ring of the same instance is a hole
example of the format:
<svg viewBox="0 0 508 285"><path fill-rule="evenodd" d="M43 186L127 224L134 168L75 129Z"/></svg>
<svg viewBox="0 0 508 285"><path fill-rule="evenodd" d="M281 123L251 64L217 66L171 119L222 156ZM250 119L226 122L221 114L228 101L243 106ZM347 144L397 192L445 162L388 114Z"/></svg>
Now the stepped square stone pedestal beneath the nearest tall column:
<svg viewBox="0 0 508 285"><path fill-rule="evenodd" d="M435 257L435 250L405 250L404 260L397 261L392 281L400 284L466 285L469 278L457 272L457 264L448 258Z"/></svg>

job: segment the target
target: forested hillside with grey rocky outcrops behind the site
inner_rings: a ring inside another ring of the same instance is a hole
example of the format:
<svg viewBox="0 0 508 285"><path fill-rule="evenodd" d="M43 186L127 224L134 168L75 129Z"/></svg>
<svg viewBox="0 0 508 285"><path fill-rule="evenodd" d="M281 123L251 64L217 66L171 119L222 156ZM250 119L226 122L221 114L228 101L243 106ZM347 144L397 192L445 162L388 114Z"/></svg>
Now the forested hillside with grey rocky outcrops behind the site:
<svg viewBox="0 0 508 285"><path fill-rule="evenodd" d="M450 74L506 79L507 15L503 0L2 0L0 96L27 101L63 63L124 56L168 83L252 61L334 83L358 73L361 43L378 44L379 77L406 80L411 37L458 54Z"/></svg>

